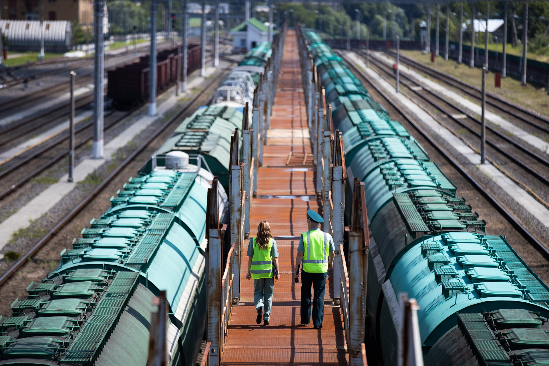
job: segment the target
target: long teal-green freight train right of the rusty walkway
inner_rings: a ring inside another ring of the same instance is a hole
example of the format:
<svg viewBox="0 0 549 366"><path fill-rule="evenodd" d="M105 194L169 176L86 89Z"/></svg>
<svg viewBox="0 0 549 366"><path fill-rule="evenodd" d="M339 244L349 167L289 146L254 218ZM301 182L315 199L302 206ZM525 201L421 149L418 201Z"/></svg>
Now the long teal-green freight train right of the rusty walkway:
<svg viewBox="0 0 549 366"><path fill-rule="evenodd" d="M343 133L347 181L365 183L365 341L385 366L397 364L397 294L407 292L421 307L426 366L549 364L547 285L513 243L486 232L458 187L348 65L315 32L302 34Z"/></svg>

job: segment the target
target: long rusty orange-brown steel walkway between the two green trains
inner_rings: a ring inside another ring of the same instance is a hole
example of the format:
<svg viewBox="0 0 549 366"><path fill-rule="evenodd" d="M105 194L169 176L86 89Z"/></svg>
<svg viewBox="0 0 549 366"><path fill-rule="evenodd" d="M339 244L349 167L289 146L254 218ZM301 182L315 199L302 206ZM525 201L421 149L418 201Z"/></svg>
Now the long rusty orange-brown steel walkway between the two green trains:
<svg viewBox="0 0 549 366"><path fill-rule="evenodd" d="M348 364L343 318L333 304L332 271L328 272L324 297L322 329L300 325L301 281L294 282L295 256L299 237L307 230L306 211L322 210L313 184L309 129L295 31L289 30L284 44L282 72L273 104L271 129L264 150L264 165L257 172L257 198L250 213L250 236L257 224L271 224L277 239L281 278L275 283L271 320L268 326L257 325L254 306L254 283L247 280L248 258L243 247L240 268L240 302L233 306L222 365L345 365ZM288 155L291 164L287 165ZM299 160L299 158L301 160Z"/></svg>

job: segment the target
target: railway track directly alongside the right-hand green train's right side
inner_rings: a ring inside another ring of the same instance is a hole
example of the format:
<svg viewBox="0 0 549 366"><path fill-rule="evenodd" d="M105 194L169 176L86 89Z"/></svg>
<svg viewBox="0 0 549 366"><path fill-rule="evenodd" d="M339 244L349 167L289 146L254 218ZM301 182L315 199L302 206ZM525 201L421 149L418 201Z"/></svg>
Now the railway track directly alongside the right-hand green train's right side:
<svg viewBox="0 0 549 366"><path fill-rule="evenodd" d="M540 240L534 237L507 207L500 204L494 195L484 188L473 174L461 166L435 138L430 136L405 111L402 111L376 83L343 55L341 57L355 72L355 75L364 82L365 86L371 86L368 88L368 93L372 98L384 106L392 119L402 121L407 131L418 140L431 159L440 165L446 176L457 185L458 193L463 195L467 201L473 202L474 208L479 210L488 222L486 229L490 233L505 235L509 243L513 243L513 249L517 251L517 254L542 280L547 282L549 280L549 273L547 273L549 250L540 243Z"/></svg>

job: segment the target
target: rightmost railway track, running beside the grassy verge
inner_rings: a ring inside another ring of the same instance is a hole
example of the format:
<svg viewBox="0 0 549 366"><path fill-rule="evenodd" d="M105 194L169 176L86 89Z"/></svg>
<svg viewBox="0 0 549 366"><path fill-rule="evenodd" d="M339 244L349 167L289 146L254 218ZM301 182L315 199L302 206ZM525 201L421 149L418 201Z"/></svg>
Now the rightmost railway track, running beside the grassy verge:
<svg viewBox="0 0 549 366"><path fill-rule="evenodd" d="M395 55L394 52L388 53L393 57ZM429 76L435 77L436 80L440 80L446 83L446 85L457 88L459 91L469 95L470 97L473 97L479 101L482 99L482 91L480 89L469 85L456 77L432 69L431 67L425 66L402 54L400 55L400 61ZM402 76L403 74L401 73L400 75ZM525 125L532 127L534 131L538 133L541 132L549 134L549 118L546 116L542 116L535 111L528 110L524 108L524 106L508 102L507 100L504 100L498 95L490 92L486 93L486 104L491 106L492 111L496 114L500 114L500 112L505 113L511 122L514 121L524 123Z"/></svg>

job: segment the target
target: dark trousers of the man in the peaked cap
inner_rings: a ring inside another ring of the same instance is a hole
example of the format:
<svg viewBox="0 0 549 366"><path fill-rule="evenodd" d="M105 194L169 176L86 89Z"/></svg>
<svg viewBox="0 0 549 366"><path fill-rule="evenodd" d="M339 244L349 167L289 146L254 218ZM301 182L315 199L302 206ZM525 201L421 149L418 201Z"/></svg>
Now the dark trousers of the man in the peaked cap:
<svg viewBox="0 0 549 366"><path fill-rule="evenodd" d="M309 324L311 319L311 285L313 288L312 324L322 325L324 319L324 290L326 273L301 271L301 324Z"/></svg>

